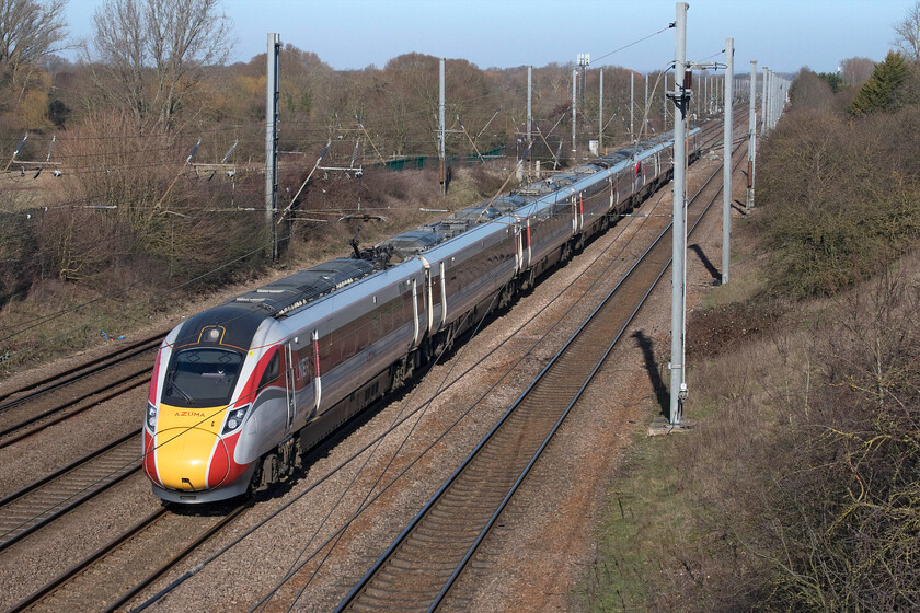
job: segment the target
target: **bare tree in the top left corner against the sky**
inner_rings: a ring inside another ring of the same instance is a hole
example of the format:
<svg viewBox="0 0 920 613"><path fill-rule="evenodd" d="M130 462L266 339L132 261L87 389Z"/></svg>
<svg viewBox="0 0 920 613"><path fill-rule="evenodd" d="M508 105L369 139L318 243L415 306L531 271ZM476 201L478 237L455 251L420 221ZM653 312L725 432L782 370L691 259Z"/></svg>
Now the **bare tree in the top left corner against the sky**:
<svg viewBox="0 0 920 613"><path fill-rule="evenodd" d="M24 66L58 50L67 35L66 0L0 0L0 83L15 82Z"/></svg>

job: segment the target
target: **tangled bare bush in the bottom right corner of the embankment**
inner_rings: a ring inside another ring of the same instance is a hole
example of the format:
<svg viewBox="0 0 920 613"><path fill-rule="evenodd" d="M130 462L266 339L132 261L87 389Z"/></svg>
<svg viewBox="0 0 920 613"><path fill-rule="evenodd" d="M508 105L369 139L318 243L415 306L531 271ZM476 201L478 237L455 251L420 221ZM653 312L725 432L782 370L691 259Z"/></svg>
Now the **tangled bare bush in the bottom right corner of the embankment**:
<svg viewBox="0 0 920 613"><path fill-rule="evenodd" d="M886 274L848 293L775 456L768 498L777 610L911 610L920 599L920 284Z"/></svg>

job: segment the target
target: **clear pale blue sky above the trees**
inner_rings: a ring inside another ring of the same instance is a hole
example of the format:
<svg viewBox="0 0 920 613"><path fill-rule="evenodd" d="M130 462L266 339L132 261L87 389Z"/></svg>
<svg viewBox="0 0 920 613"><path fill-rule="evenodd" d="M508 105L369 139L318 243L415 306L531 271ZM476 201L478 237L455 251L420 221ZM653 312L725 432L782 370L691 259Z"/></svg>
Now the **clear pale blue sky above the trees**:
<svg viewBox="0 0 920 613"><path fill-rule="evenodd" d="M894 46L893 25L915 1L694 0L687 58L724 62L733 37L736 73L748 72L752 59L783 73L833 72L851 57L881 61ZM69 0L72 38L92 35L101 5ZM382 68L413 51L483 69L564 65L590 54L591 66L640 72L675 56L675 31L658 33L675 20L670 0L223 0L223 10L235 37L230 62L265 53L269 32L337 70Z"/></svg>

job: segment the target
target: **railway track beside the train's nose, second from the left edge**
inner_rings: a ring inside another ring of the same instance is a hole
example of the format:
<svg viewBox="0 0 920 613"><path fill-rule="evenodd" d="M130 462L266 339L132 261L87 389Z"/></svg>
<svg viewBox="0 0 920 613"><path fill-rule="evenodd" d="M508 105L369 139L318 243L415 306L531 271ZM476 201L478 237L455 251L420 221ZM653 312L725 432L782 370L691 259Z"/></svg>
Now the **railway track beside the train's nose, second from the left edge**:
<svg viewBox="0 0 920 613"><path fill-rule="evenodd" d="M140 470L140 429L0 499L0 552Z"/></svg>

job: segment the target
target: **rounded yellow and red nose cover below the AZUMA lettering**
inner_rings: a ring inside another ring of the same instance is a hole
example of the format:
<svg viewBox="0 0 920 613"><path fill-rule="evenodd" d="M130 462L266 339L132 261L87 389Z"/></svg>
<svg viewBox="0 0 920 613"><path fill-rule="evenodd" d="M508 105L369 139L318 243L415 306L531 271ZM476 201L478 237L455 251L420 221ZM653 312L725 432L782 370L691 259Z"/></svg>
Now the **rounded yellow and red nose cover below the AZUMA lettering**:
<svg viewBox="0 0 920 613"><path fill-rule="evenodd" d="M157 470L164 487L198 491L227 477L230 458L217 436L198 428L170 428L157 435Z"/></svg>

